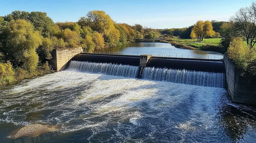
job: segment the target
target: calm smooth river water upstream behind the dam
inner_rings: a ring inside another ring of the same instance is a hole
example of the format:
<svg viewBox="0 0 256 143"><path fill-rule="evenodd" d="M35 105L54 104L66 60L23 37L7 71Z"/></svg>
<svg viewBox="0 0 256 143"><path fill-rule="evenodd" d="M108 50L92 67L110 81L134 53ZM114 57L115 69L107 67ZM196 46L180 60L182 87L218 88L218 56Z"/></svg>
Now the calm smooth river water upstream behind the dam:
<svg viewBox="0 0 256 143"><path fill-rule="evenodd" d="M124 53L127 55L141 55L150 54L155 56L170 56L170 57L183 57L183 58L203 58L203 59L223 59L223 54L212 51L199 51L199 50L187 50L176 48L168 43L131 43L122 46L116 46L111 48L105 48L101 50L95 50L94 52L101 53Z"/></svg>

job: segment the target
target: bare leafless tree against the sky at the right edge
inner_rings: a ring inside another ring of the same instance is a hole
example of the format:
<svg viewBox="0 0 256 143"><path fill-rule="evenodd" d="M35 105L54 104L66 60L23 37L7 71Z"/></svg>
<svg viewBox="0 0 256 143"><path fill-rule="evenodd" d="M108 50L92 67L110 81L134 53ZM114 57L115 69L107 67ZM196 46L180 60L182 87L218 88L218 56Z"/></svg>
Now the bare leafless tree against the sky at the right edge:
<svg viewBox="0 0 256 143"><path fill-rule="evenodd" d="M234 22L235 30L252 48L256 43L256 3L253 2L250 7L239 9L231 20Z"/></svg>

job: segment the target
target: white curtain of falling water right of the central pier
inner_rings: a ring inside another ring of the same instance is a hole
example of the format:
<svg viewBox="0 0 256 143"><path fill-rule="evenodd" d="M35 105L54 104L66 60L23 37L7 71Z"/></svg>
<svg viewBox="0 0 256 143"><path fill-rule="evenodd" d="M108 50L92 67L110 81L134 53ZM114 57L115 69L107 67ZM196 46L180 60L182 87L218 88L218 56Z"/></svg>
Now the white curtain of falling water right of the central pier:
<svg viewBox="0 0 256 143"><path fill-rule="evenodd" d="M142 79L224 88L224 73L146 67Z"/></svg>

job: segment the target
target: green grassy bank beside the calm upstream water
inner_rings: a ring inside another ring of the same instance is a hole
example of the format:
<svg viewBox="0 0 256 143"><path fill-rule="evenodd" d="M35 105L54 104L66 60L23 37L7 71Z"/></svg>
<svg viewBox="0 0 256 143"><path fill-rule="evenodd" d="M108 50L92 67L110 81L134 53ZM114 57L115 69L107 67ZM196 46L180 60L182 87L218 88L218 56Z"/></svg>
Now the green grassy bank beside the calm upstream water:
<svg viewBox="0 0 256 143"><path fill-rule="evenodd" d="M220 46L221 38L203 39L203 41L200 41L200 42L198 42L197 39L171 38L161 42L170 43L177 48L202 50L202 51L215 51L215 52L224 53L224 50Z"/></svg>

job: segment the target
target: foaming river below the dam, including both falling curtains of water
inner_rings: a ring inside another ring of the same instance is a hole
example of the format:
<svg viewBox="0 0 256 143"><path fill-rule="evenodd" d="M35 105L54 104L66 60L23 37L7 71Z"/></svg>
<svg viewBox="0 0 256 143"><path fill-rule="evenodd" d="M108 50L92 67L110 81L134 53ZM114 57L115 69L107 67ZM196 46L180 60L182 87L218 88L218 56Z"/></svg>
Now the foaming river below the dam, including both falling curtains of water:
<svg viewBox="0 0 256 143"><path fill-rule="evenodd" d="M0 87L0 142L256 142L256 109L230 101L223 74L138 68L72 61ZM59 129L8 137L34 123Z"/></svg>

